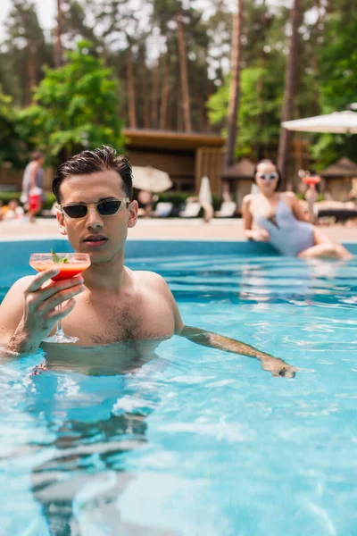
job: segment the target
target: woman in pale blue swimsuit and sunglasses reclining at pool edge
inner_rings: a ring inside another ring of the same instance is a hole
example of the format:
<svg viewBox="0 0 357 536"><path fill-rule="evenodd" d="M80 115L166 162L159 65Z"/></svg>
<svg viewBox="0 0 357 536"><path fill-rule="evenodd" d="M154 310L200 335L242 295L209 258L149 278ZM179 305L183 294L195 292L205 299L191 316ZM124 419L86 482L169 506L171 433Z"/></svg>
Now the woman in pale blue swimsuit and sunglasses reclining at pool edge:
<svg viewBox="0 0 357 536"><path fill-rule="evenodd" d="M287 256L351 259L347 249L335 244L306 221L303 207L293 192L280 192L281 176L270 160L257 164L254 182L259 193L245 196L242 214L245 237L270 242ZM258 227L253 229L253 223Z"/></svg>

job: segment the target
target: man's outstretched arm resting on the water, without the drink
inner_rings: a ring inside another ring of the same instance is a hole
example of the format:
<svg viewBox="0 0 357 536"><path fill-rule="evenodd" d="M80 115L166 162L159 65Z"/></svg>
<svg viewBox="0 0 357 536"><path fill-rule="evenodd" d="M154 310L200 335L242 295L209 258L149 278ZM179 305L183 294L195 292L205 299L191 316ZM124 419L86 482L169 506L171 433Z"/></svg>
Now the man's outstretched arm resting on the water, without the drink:
<svg viewBox="0 0 357 536"><path fill-rule="evenodd" d="M167 286L167 285L166 285ZM169 287L167 287L170 292ZM255 357L262 362L262 369L270 372L273 376L285 376L286 378L294 378L295 372L298 370L294 366L285 363L282 359L278 357L270 356L270 354L265 354L261 350L240 342L236 339L229 339L218 333L213 333L212 331L201 330L200 328L193 328L191 326L186 326L181 319L179 314L179 307L175 301L175 298L170 292L170 301L172 304L172 312L175 319L175 334L180 337L185 337L196 344L209 348L217 348L226 352L231 352L233 354L238 354L239 356L248 356Z"/></svg>

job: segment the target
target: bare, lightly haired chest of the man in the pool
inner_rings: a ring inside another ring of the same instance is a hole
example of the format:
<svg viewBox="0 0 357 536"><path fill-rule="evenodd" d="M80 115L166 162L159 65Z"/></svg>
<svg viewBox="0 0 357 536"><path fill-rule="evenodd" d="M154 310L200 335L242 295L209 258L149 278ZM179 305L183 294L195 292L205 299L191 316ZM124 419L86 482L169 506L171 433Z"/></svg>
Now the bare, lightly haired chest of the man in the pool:
<svg viewBox="0 0 357 536"><path fill-rule="evenodd" d="M98 298L94 303L83 299L63 320L63 330L82 346L167 337L174 329L170 304L162 297L153 302L146 297L121 302Z"/></svg>

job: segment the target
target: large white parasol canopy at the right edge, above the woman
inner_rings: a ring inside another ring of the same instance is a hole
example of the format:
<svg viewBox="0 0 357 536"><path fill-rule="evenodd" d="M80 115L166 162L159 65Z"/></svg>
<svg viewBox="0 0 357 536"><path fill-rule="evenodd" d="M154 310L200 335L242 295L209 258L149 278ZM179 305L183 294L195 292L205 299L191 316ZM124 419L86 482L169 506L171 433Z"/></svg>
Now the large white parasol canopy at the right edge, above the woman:
<svg viewBox="0 0 357 536"><path fill-rule="evenodd" d="M315 115L295 121L283 121L281 126L287 130L301 130L303 132L331 132L336 134L357 133L357 113L346 110L326 115Z"/></svg>

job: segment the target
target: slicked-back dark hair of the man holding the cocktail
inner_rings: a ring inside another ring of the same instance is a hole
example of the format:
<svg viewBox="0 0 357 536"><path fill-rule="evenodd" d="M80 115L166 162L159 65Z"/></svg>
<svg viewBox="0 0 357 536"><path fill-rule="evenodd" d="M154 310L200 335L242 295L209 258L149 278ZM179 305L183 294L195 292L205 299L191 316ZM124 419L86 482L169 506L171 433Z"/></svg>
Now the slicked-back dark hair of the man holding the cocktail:
<svg viewBox="0 0 357 536"><path fill-rule="evenodd" d="M88 175L95 172L113 170L120 174L125 195L133 198L133 174L128 156L118 155L110 146L102 146L93 151L82 151L79 155L71 156L67 162L60 165L55 172L52 190L61 203L60 187L62 181L72 175Z"/></svg>

